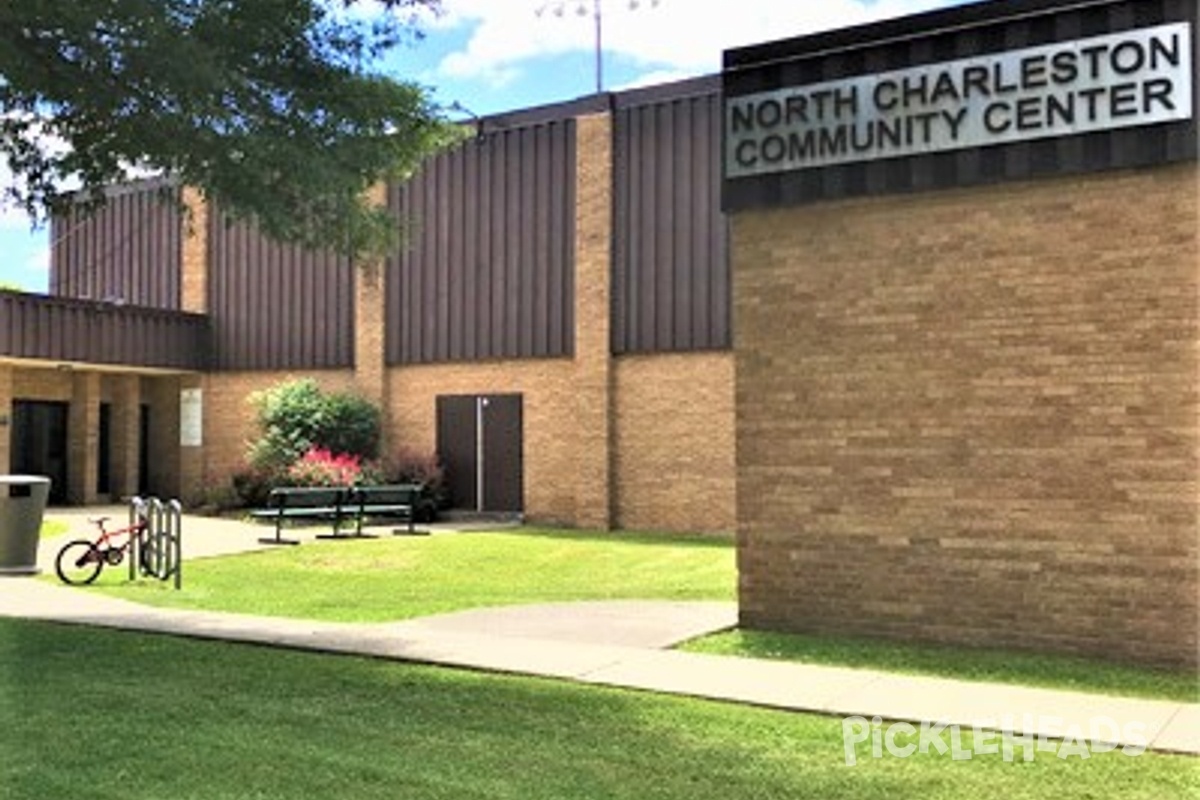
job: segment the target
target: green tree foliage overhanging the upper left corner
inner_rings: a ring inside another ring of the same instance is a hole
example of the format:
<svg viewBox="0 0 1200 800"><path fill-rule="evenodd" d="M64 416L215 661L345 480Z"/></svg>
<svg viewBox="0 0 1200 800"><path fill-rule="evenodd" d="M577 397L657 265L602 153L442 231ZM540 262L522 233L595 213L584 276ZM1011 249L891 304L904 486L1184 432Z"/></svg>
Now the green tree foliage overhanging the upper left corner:
<svg viewBox="0 0 1200 800"><path fill-rule="evenodd" d="M270 236L378 252L364 201L455 138L427 94L373 72L437 0L6 0L0 154L35 218L131 167L198 187ZM366 7L362 7L366 6Z"/></svg>

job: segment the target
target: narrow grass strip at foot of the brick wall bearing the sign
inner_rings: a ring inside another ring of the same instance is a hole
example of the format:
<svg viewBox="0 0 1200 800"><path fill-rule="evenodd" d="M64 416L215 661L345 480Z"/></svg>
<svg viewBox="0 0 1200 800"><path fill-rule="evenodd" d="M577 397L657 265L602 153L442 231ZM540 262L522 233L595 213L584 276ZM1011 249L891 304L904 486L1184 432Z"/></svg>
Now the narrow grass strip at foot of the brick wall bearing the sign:
<svg viewBox="0 0 1200 800"><path fill-rule="evenodd" d="M682 649L1100 694L1200 702L1200 679L1195 673L1052 654L761 631L714 633L688 642Z"/></svg>

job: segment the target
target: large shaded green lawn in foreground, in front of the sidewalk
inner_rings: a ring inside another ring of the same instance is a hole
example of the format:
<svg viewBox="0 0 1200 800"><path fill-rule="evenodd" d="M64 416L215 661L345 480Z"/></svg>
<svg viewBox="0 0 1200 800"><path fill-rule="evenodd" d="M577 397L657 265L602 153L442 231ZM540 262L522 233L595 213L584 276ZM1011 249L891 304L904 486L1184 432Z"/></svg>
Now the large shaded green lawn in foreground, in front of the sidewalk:
<svg viewBox="0 0 1200 800"><path fill-rule="evenodd" d="M841 721L0 620L0 794L462 800L1194 798L1198 760L844 760ZM965 745L970 747L970 734Z"/></svg>

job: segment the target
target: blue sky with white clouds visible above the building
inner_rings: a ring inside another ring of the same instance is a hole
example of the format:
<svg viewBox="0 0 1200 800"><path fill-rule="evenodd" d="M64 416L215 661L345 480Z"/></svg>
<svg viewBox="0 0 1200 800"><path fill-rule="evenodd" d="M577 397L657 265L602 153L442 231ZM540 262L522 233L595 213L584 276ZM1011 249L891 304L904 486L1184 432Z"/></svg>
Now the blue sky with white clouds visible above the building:
<svg viewBox="0 0 1200 800"><path fill-rule="evenodd" d="M716 72L721 50L962 0L601 0L604 88ZM486 115L595 90L595 0L443 0L385 70ZM11 175L0 164L0 185ZM0 206L0 284L46 291L49 236Z"/></svg>

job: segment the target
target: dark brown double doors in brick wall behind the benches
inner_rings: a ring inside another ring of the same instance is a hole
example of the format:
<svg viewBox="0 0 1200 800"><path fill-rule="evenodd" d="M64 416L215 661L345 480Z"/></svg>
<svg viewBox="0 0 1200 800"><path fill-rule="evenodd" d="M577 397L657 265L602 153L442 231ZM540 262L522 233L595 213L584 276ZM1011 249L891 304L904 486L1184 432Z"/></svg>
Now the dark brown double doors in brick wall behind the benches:
<svg viewBox="0 0 1200 800"><path fill-rule="evenodd" d="M524 509L521 395L438 397L438 458L456 509Z"/></svg>

